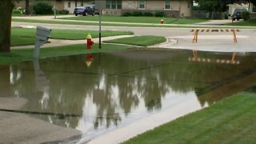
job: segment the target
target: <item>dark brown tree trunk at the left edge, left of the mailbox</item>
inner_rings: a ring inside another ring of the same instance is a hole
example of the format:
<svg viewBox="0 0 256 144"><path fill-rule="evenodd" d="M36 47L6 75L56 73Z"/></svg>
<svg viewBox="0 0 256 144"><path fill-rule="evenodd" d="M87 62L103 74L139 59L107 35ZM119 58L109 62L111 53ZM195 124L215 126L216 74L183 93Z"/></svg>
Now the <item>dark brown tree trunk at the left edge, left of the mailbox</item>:
<svg viewBox="0 0 256 144"><path fill-rule="evenodd" d="M11 15L14 9L12 0L3 0L0 4L0 52L10 52L10 25Z"/></svg>

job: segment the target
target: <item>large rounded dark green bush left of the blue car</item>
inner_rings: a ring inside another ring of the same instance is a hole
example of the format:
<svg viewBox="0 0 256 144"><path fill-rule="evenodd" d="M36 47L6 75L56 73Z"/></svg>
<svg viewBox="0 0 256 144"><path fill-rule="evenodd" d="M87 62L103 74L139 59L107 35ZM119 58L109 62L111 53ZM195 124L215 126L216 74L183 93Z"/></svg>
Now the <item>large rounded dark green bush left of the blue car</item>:
<svg viewBox="0 0 256 144"><path fill-rule="evenodd" d="M37 1L32 7L35 14L53 14L53 5L50 2Z"/></svg>

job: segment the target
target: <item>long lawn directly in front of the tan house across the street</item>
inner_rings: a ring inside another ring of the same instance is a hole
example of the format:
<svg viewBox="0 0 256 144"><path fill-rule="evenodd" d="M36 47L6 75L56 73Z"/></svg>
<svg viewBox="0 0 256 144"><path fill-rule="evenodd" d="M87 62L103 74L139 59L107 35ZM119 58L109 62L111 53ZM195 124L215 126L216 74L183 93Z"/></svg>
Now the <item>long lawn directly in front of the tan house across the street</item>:
<svg viewBox="0 0 256 144"><path fill-rule="evenodd" d="M70 18L61 18L78 21L98 21L98 16L78 16ZM127 23L160 23L161 19L166 24L194 24L198 22L207 22L206 19L199 18L157 18L157 17L122 17L122 16L102 16L102 22L127 22Z"/></svg>

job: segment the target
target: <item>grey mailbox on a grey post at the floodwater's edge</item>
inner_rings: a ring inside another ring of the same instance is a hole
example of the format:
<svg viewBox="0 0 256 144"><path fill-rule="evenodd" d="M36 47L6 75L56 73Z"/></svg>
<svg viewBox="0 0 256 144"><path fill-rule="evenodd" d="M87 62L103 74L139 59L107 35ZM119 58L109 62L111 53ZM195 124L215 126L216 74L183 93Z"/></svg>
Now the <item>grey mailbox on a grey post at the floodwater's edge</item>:
<svg viewBox="0 0 256 144"><path fill-rule="evenodd" d="M50 29L42 26L37 27L37 32L35 35L35 45L34 45L34 58L39 57L40 46L48 41L50 38Z"/></svg>

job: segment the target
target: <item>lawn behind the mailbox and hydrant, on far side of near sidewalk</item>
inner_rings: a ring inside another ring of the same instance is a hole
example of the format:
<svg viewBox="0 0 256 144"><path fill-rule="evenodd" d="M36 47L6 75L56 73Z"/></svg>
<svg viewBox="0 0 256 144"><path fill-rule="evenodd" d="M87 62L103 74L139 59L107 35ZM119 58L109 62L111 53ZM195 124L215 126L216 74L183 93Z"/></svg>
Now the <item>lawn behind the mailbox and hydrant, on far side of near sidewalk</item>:
<svg viewBox="0 0 256 144"><path fill-rule="evenodd" d="M11 46L34 45L36 29L13 28L11 30ZM86 39L86 35L90 34L92 38L98 38L97 30L52 30L50 38L80 40ZM134 34L130 31L103 30L102 37L116 35Z"/></svg>

